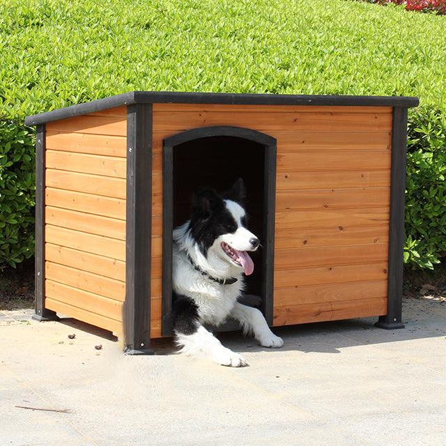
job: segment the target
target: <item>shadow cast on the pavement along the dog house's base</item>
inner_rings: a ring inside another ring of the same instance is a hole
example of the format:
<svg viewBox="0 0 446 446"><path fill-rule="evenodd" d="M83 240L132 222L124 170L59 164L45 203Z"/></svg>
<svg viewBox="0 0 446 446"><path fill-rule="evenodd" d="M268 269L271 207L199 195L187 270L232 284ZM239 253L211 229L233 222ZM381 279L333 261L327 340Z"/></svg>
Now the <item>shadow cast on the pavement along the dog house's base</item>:
<svg viewBox="0 0 446 446"><path fill-rule="evenodd" d="M275 334L284 339L284 346L279 350L258 346L254 338L244 337L240 331L219 332L216 336L224 346L239 353L253 351L340 353L340 348L351 346L445 336L446 303L413 298L404 300L403 322L406 328L401 330L376 328L374 327L376 321L376 317L358 318L272 328ZM118 340L112 332L73 318L61 318L59 323L89 332L102 339ZM169 355L177 350L172 338L153 339L151 347L157 355Z"/></svg>

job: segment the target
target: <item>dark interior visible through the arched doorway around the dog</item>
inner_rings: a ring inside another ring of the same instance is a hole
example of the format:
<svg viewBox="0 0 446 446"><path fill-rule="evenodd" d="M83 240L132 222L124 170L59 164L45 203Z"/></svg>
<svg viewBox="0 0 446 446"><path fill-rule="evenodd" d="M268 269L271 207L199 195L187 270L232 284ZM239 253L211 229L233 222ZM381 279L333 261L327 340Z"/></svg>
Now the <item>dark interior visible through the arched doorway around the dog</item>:
<svg viewBox="0 0 446 446"><path fill-rule="evenodd" d="M191 197L201 186L217 192L228 190L243 178L247 190L245 208L248 229L265 237L264 174L265 146L239 137L215 136L193 139L174 147L174 227L189 218ZM263 250L252 253L254 273L246 278L246 293L263 293Z"/></svg>

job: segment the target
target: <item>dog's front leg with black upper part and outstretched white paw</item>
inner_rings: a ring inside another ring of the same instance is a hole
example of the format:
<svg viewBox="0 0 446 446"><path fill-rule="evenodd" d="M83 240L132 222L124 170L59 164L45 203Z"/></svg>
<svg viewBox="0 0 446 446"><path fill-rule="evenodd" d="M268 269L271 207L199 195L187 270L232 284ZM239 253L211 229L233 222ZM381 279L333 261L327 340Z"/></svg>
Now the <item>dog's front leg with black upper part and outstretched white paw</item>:
<svg viewBox="0 0 446 446"><path fill-rule="evenodd" d="M241 355L222 346L220 341L199 322L198 307L191 298L178 296L174 302L175 341L180 353L208 356L217 364L243 367L247 362Z"/></svg>

